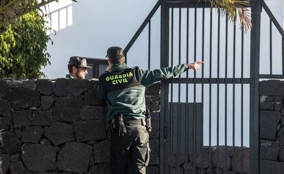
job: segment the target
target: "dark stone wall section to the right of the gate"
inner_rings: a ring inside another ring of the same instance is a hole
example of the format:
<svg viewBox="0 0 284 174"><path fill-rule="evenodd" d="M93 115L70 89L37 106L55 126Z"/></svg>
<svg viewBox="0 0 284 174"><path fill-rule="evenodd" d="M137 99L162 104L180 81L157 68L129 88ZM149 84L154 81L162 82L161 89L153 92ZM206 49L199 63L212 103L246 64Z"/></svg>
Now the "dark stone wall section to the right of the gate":
<svg viewBox="0 0 284 174"><path fill-rule="evenodd" d="M284 81L266 80L259 85L260 173L284 171Z"/></svg>

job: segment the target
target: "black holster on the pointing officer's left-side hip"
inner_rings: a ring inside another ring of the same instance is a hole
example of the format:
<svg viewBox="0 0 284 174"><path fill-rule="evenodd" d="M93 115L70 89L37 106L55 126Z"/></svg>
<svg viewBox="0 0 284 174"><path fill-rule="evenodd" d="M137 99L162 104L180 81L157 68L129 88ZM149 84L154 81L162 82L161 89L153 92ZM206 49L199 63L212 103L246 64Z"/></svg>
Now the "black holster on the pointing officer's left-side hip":
<svg viewBox="0 0 284 174"><path fill-rule="evenodd" d="M123 115L121 113L115 114L115 118L111 122L111 131L119 137L126 134L126 125L123 122Z"/></svg>

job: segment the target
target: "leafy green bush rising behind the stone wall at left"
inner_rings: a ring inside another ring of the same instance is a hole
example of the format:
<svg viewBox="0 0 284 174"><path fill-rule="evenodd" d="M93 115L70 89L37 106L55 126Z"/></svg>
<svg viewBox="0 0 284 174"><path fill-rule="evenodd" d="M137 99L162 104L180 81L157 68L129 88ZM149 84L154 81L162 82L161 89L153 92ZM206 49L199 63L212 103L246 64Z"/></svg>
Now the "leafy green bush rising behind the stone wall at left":
<svg viewBox="0 0 284 174"><path fill-rule="evenodd" d="M45 21L37 11L9 24L0 34L0 78L42 78L41 67L50 65Z"/></svg>

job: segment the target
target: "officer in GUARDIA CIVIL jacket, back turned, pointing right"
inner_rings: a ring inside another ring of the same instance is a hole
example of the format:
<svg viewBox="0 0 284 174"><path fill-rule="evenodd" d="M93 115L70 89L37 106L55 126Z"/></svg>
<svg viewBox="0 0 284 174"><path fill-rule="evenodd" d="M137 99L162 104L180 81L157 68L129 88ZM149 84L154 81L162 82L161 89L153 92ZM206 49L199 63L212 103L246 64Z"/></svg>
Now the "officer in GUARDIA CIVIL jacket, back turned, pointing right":
<svg viewBox="0 0 284 174"><path fill-rule="evenodd" d="M99 76L97 97L106 100L108 105L107 119L112 127L110 167L112 173L125 174L129 160L134 174L145 173L150 150L145 87L178 76L187 69L197 70L203 62L143 70L126 65L121 47L109 47L106 53L110 69Z"/></svg>

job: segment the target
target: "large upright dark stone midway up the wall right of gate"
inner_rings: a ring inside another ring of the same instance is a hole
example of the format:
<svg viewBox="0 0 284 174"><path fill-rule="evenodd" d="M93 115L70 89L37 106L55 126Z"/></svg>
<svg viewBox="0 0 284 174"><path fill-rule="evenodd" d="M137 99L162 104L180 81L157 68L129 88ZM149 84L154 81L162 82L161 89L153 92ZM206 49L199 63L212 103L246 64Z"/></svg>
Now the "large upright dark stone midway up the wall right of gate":
<svg viewBox="0 0 284 174"><path fill-rule="evenodd" d="M279 111L260 111L260 138L275 140L280 119Z"/></svg>

